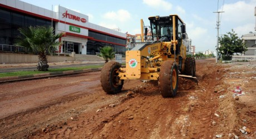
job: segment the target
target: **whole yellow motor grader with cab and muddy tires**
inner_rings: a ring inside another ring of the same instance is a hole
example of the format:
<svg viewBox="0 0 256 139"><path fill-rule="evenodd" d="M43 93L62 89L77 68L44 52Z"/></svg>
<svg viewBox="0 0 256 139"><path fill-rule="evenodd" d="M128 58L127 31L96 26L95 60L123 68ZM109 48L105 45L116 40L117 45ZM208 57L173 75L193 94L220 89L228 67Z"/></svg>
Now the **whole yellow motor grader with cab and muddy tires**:
<svg viewBox="0 0 256 139"><path fill-rule="evenodd" d="M101 86L108 93L121 92L124 80L158 80L161 95L174 97L179 77L195 76L195 59L186 58L185 23L178 15L149 17L151 41L126 51L126 67L111 61L101 70ZM141 34L147 36L142 25Z"/></svg>

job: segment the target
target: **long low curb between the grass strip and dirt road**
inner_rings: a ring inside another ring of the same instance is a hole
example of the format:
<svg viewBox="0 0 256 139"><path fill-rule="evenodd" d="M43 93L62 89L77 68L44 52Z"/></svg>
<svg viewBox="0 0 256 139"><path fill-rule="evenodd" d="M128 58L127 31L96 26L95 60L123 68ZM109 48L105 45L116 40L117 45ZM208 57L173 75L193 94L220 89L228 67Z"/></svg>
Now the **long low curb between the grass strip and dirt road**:
<svg viewBox="0 0 256 139"><path fill-rule="evenodd" d="M48 78L48 77L65 76L65 75L73 75L73 74L78 74L78 73L83 73L83 72L101 71L101 69L102 68L87 68L87 69L75 70L75 71L48 72L48 73L38 73L38 74L35 74L35 75L3 77L3 78L0 78L0 83L14 82L14 81L24 81L24 80L33 80L33 79L39 79L39 78Z"/></svg>

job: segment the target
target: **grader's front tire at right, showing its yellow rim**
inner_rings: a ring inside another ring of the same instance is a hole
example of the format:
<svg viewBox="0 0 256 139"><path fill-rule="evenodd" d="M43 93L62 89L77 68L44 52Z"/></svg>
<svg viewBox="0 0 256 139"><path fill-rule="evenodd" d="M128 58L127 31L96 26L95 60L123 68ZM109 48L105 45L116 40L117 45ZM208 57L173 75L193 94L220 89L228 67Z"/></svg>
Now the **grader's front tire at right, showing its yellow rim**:
<svg viewBox="0 0 256 139"><path fill-rule="evenodd" d="M159 87L163 97L175 97L178 90L178 67L172 61L164 61L159 73Z"/></svg>

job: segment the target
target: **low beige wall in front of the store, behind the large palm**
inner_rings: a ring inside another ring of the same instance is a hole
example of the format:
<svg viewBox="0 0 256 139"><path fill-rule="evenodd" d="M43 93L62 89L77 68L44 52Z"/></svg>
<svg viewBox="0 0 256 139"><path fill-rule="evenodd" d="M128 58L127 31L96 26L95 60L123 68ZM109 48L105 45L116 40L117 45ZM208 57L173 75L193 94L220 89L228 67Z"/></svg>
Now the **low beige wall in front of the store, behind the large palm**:
<svg viewBox="0 0 256 139"><path fill-rule="evenodd" d="M73 57L65 56L48 56L48 62L74 61ZM16 54L16 53L0 53L1 63L37 63L38 55L34 54Z"/></svg>

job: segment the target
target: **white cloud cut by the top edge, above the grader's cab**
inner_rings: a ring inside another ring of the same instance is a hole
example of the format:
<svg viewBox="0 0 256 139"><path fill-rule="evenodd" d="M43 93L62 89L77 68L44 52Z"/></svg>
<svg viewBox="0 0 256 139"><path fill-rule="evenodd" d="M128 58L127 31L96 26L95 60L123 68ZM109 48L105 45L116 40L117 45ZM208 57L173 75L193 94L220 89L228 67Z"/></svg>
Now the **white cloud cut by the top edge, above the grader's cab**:
<svg viewBox="0 0 256 139"><path fill-rule="evenodd" d="M170 11L173 7L173 4L164 0L143 0L143 3L154 9L160 9L164 11Z"/></svg>

